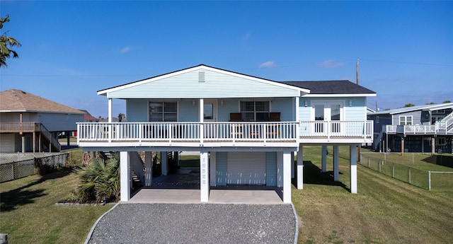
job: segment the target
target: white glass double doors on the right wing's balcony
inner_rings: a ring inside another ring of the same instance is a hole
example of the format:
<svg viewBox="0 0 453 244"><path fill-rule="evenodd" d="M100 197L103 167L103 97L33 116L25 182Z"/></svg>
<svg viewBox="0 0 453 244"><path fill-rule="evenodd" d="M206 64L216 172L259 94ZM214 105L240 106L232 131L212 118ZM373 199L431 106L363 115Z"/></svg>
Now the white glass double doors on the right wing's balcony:
<svg viewBox="0 0 453 244"><path fill-rule="evenodd" d="M313 103L314 132L339 134L342 131L343 102Z"/></svg>

